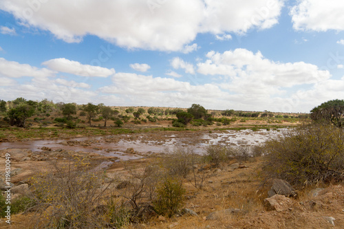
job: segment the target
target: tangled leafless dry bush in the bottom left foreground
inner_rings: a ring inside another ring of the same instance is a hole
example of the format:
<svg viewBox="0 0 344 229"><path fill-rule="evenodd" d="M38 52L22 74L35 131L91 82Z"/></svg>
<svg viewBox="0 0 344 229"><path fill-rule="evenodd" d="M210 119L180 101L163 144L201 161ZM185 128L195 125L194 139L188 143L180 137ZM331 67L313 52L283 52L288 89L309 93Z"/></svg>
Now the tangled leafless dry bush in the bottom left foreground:
<svg viewBox="0 0 344 229"><path fill-rule="evenodd" d="M71 156L54 162L50 171L30 179L36 220L32 228L102 228L105 226L103 172ZM105 204L106 205L106 204ZM107 207L105 207L107 208Z"/></svg>

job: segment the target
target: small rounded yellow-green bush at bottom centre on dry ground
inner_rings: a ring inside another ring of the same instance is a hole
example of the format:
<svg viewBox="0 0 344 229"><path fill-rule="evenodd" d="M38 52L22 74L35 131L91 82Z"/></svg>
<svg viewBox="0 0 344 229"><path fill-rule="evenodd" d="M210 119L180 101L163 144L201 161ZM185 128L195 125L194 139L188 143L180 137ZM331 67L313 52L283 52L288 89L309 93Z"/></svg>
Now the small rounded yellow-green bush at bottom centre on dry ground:
<svg viewBox="0 0 344 229"><path fill-rule="evenodd" d="M166 177L164 182L158 186L157 197L153 201L155 210L167 217L173 216L184 203L185 189L179 180Z"/></svg>

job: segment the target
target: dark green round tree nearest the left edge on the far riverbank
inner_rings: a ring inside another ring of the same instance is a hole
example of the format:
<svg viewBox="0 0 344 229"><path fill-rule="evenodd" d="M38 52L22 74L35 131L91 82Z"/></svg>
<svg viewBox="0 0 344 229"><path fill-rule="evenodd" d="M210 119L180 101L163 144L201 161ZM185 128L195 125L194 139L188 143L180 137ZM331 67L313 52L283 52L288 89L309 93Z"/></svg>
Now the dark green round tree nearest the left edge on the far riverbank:
<svg viewBox="0 0 344 229"><path fill-rule="evenodd" d="M28 104L22 103L17 107L14 107L8 111L8 117L10 118L11 125L17 125L17 127L25 127L26 119L34 115L34 107Z"/></svg>

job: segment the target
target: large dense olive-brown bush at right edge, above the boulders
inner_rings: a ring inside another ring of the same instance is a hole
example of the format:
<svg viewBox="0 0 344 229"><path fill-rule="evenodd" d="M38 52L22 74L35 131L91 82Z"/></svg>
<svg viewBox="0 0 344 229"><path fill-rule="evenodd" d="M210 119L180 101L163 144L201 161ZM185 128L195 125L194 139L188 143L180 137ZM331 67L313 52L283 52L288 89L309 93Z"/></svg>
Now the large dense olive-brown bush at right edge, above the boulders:
<svg viewBox="0 0 344 229"><path fill-rule="evenodd" d="M332 125L302 127L266 142L266 178L304 186L343 179L343 129Z"/></svg>

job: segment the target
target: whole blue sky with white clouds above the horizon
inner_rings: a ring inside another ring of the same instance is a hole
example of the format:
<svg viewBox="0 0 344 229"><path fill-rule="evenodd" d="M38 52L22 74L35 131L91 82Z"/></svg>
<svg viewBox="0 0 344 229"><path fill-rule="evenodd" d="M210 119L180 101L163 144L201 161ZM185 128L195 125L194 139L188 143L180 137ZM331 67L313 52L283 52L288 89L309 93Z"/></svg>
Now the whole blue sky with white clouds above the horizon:
<svg viewBox="0 0 344 229"><path fill-rule="evenodd" d="M0 99L305 112L344 98L342 0L0 0Z"/></svg>

